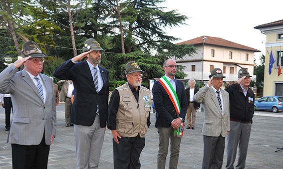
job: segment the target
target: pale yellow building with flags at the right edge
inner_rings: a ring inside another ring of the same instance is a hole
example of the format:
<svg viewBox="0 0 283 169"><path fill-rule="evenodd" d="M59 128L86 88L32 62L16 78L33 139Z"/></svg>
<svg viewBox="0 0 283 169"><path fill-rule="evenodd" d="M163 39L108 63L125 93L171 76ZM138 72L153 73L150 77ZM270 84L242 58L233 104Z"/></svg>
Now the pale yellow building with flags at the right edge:
<svg viewBox="0 0 283 169"><path fill-rule="evenodd" d="M255 27L267 35L264 77L264 96L283 96L283 75L278 75L279 56L283 54L283 20L262 24ZM273 53L275 63L269 74L270 54ZM282 60L283 61L283 60ZM281 62L281 66L283 66ZM282 70L283 72L283 70Z"/></svg>

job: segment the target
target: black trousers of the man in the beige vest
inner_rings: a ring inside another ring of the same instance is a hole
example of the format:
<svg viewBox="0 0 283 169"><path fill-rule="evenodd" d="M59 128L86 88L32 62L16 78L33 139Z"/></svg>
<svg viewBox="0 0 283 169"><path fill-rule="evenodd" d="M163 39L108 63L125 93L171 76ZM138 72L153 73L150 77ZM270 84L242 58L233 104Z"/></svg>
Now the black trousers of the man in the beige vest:
<svg viewBox="0 0 283 169"><path fill-rule="evenodd" d="M145 138L122 137L117 144L113 139L114 169L140 169L140 155L145 146Z"/></svg>

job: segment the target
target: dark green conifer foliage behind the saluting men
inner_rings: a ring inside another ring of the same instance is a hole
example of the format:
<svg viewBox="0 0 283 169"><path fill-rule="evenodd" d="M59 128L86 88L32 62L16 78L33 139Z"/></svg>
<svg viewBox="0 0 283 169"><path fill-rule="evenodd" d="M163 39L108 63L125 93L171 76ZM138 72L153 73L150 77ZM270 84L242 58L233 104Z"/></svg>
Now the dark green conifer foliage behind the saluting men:
<svg viewBox="0 0 283 169"><path fill-rule="evenodd" d="M6 1L9 1L12 14L2 14L5 11L0 3L0 20L10 18L16 31L35 41L47 53L43 73L49 76L58 65L75 55L73 49L81 53L88 38L96 39L105 50L100 65L109 70L111 81L126 80L124 69L129 61L140 65L146 80L164 74L162 65L166 59L180 59L196 52L192 45L175 45L173 42L178 38L166 34L165 28L185 24L187 16L176 10L164 11L160 4L165 0ZM69 7L68 2L71 2ZM120 13L111 7L115 3ZM70 23L73 24L73 39ZM16 56L11 43L11 39L16 38L6 34L10 30L4 24L7 25L0 22L2 53ZM8 42L3 39L6 36L10 38ZM23 42L19 42L21 47ZM122 43L125 52L121 52ZM183 70L184 67L178 67L176 78L185 77Z"/></svg>

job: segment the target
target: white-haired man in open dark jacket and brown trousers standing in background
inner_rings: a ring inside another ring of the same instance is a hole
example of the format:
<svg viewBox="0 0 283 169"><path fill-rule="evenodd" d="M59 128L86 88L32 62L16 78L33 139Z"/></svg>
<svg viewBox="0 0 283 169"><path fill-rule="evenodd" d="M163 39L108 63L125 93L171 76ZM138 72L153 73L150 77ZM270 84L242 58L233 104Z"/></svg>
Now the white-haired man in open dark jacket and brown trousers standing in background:
<svg viewBox="0 0 283 169"><path fill-rule="evenodd" d="M194 101L194 95L199 91L199 89L195 88L195 85L196 85L196 81L194 79L190 79L189 80L190 87L185 90L189 104L187 110L187 122L188 122L187 129L192 128L193 130L195 130L197 109L200 108L200 104ZM191 120L191 116L192 116L192 120Z"/></svg>

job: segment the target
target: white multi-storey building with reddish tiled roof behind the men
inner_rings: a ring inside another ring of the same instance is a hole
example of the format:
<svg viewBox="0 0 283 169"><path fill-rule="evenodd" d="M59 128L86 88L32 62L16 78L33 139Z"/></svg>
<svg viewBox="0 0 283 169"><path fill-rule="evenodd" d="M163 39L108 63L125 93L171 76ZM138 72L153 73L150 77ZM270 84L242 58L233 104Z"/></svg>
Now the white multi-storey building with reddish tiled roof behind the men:
<svg viewBox="0 0 283 169"><path fill-rule="evenodd" d="M193 57L186 56L177 60L178 65L186 66L184 72L188 79L208 81L214 67L223 70L225 82L237 81L241 67L248 69L251 75L254 74L254 52L260 50L212 36L200 36L177 44L184 43L197 48L197 54Z"/></svg>

